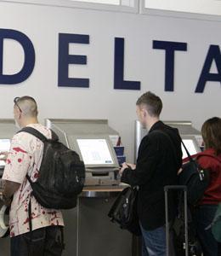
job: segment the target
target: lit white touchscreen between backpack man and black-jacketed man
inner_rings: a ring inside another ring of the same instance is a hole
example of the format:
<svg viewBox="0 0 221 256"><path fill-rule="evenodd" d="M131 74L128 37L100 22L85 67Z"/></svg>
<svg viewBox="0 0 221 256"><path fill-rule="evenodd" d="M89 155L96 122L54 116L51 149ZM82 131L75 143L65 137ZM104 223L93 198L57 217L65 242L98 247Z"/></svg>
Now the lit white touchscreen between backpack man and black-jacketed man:
<svg viewBox="0 0 221 256"><path fill-rule="evenodd" d="M106 166L114 164L105 138L77 139L85 165Z"/></svg>

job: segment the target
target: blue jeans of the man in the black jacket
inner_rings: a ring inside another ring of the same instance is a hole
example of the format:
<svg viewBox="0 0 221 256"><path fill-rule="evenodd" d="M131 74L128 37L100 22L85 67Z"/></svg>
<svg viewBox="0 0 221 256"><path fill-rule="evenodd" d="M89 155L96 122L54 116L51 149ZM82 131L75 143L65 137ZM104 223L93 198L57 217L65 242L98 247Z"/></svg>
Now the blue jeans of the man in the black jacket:
<svg viewBox="0 0 221 256"><path fill-rule="evenodd" d="M166 228L165 225L156 230L144 230L140 224L144 246L142 256L166 256Z"/></svg>

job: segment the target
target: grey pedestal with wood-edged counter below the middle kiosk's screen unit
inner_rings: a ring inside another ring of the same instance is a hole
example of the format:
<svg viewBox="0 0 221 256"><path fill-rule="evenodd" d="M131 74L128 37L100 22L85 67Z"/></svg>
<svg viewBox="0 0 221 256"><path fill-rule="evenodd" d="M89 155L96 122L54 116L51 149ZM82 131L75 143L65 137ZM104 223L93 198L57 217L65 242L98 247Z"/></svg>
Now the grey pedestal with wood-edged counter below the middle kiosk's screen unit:
<svg viewBox="0 0 221 256"><path fill-rule="evenodd" d="M77 207L64 211L64 256L132 256L133 238L107 217L122 186L86 187Z"/></svg>

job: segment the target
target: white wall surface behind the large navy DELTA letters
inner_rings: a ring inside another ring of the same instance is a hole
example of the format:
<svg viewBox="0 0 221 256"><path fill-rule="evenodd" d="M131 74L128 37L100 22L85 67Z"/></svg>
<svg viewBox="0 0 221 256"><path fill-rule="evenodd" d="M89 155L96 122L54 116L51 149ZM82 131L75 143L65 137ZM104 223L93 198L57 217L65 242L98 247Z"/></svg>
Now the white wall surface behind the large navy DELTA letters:
<svg viewBox="0 0 221 256"><path fill-rule="evenodd" d="M221 44L221 20L194 20L87 9L0 2L0 28L24 32L36 51L31 77L21 84L0 84L0 118L13 118L14 96L37 99L44 118L108 119L122 135L127 160L133 160L135 102L146 90L161 96L161 119L202 122L220 115L220 83L208 82L195 94L210 44ZM71 54L88 55L88 65L70 68L71 75L90 79L90 88L60 88L59 32L90 35L90 44L71 46ZM141 81L141 90L114 90L114 38L125 38L125 79ZM175 54L174 91L164 91L165 52L152 49L152 40L186 42ZM6 42L4 71L19 70L23 52ZM215 73L217 73L215 69Z"/></svg>

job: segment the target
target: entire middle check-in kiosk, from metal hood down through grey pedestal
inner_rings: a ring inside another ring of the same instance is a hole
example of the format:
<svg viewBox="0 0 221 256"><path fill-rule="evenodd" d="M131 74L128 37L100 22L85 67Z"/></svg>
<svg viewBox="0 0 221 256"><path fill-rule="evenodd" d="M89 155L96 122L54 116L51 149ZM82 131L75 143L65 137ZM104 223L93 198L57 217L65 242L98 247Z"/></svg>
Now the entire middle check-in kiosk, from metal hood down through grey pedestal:
<svg viewBox="0 0 221 256"><path fill-rule="evenodd" d="M86 166L86 183L77 207L63 211L64 256L133 256L133 239L107 216L125 186L116 179L118 162L113 145L119 134L100 119L46 119L46 125L80 155Z"/></svg>

